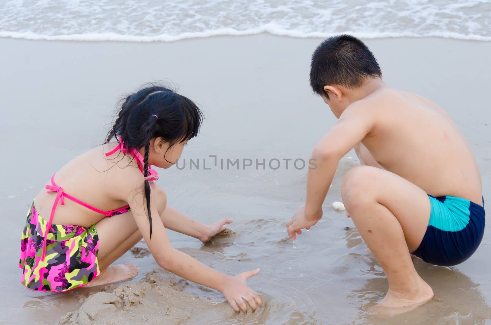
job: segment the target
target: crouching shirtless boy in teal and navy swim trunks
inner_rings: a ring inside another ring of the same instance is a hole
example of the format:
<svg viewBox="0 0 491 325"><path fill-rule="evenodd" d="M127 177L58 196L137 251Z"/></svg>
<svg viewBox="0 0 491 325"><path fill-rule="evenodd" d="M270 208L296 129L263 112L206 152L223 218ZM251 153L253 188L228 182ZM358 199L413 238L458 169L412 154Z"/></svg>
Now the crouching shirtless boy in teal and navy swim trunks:
<svg viewBox="0 0 491 325"><path fill-rule="evenodd" d="M484 199L472 151L450 116L428 99L382 81L377 60L359 39L338 35L312 55L310 84L339 119L312 153L307 196L287 223L295 240L322 217L339 160L355 148L361 166L345 176L347 216L389 282L379 303L390 313L433 298L408 253L425 262L464 262L481 243Z"/></svg>

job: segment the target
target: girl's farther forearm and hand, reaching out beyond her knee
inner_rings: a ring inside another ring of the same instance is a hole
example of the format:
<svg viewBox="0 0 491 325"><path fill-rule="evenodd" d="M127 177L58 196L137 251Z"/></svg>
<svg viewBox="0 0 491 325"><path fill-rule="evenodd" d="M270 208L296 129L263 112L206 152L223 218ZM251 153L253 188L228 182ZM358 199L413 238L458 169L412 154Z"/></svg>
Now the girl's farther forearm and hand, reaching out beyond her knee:
<svg viewBox="0 0 491 325"><path fill-rule="evenodd" d="M203 243L208 242L213 236L225 230L227 228L227 223L232 223L231 219L224 218L208 226L169 206L165 207L161 218L165 228L194 237Z"/></svg>

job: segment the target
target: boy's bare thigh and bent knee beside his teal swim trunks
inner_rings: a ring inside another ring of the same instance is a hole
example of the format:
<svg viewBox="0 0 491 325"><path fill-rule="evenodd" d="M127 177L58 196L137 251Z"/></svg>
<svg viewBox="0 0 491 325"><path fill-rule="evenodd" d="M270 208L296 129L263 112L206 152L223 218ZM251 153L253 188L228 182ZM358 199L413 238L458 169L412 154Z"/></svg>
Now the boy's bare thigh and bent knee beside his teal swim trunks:
<svg viewBox="0 0 491 325"><path fill-rule="evenodd" d="M367 204L382 204L399 221L409 250L418 248L428 227L431 203L428 194L408 180L390 171L372 166L351 169L342 185L343 202L358 210L361 217L370 217Z"/></svg>

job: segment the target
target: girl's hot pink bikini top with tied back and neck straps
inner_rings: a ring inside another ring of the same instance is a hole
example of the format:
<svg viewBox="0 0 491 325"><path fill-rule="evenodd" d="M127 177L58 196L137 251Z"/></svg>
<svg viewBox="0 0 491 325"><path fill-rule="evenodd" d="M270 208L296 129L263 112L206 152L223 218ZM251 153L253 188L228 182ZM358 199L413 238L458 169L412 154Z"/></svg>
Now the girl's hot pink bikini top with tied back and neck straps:
<svg viewBox="0 0 491 325"><path fill-rule="evenodd" d="M119 138L119 141L120 141L120 145L116 146L114 149L112 149L111 151L106 153L106 157L114 154L118 150L121 150L122 153L128 153L129 152L136 159L136 164L138 165L138 168L140 169L140 171L143 173L143 168L144 168L145 164L143 163L143 157L141 156L141 154L135 148L128 151L128 149L126 149L124 147L124 142L121 141L121 138ZM41 261L44 261L44 257L46 255L46 240L48 239L48 234L49 234L50 229L51 229L51 224L53 223L53 217L55 216L56 207L58 206L58 202L60 202L60 201L61 201L61 205L65 204L65 200L64 200L65 197L67 199L70 199L70 200L92 210L92 211L103 214L106 217L112 217L115 215L120 215L120 214L128 212L128 210L130 209L129 205L126 207L122 207L122 208L119 208L116 210L111 210L111 211L103 211L103 210L97 209L97 208L79 200L78 198L75 198L72 195L65 193L61 187L56 185L55 175L56 175L56 173L53 176L51 176L51 185L46 185L46 187L45 187L48 190L46 193L56 192L56 198L55 198L55 203L53 203L53 208L51 209L50 220L48 221L48 224L46 225L46 232L44 235L43 253L41 255ZM154 181L159 179L159 174L157 174L157 172L155 170L151 169L150 166L148 166L148 176L145 177L145 179L148 180L149 182L154 182Z"/></svg>

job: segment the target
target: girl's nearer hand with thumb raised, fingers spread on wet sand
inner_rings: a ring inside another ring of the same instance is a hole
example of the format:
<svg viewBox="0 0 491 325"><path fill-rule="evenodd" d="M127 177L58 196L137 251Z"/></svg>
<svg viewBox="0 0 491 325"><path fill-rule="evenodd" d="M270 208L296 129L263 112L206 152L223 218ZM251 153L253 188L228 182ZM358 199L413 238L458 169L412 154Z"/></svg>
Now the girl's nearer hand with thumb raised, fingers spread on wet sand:
<svg viewBox="0 0 491 325"><path fill-rule="evenodd" d="M247 312L246 301L253 311L256 310L258 305L263 305L261 297L247 287L246 284L246 280L257 273L259 273L259 269L241 273L237 276L230 277L229 281L225 284L225 288L221 294L227 299L236 312L240 312L240 309L245 313Z"/></svg>

